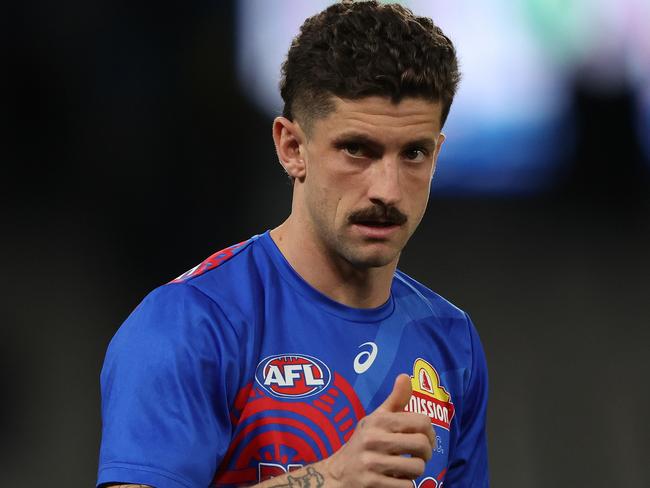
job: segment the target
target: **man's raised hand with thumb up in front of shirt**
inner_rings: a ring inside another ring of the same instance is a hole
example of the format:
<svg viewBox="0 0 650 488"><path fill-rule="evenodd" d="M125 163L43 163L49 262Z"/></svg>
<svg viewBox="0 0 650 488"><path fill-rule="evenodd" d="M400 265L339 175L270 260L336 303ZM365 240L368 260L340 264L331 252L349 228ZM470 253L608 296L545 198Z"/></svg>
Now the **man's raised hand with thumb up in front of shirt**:
<svg viewBox="0 0 650 488"><path fill-rule="evenodd" d="M413 487L411 480L424 473L436 441L429 417L404 411L410 398L411 379L401 374L384 403L359 421L341 449L319 463L333 486Z"/></svg>

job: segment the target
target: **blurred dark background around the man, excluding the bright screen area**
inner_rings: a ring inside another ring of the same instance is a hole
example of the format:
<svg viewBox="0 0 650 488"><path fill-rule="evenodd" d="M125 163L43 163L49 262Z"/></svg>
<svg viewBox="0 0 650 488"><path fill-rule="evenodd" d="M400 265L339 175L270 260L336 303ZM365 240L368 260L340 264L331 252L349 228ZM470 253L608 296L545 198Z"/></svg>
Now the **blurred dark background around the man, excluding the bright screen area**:
<svg viewBox="0 0 650 488"><path fill-rule="evenodd" d="M271 118L235 76L234 4L5 7L2 486L93 486L117 327L288 214ZM479 329L497 488L650 486L647 140L632 86L586 81L553 185L434 185L401 264Z"/></svg>

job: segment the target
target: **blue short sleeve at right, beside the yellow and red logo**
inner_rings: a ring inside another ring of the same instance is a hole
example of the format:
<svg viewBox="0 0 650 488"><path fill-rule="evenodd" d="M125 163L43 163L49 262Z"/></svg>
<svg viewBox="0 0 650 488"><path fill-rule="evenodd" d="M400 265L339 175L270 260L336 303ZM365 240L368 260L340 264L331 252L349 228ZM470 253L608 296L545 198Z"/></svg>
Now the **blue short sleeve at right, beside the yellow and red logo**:
<svg viewBox="0 0 650 488"><path fill-rule="evenodd" d="M478 333L469 317L467 325L472 364L464 394L459 439L449 459L445 488L487 488L490 485L485 433L487 364Z"/></svg>

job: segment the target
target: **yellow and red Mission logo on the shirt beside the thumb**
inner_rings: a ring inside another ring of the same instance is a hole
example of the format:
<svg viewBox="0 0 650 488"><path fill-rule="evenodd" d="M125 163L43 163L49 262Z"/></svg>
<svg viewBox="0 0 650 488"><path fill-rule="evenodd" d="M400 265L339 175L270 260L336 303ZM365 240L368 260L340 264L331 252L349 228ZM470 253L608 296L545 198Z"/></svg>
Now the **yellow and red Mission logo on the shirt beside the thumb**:
<svg viewBox="0 0 650 488"><path fill-rule="evenodd" d="M422 358L413 363L411 387L413 393L404 410L423 413L431 419L432 424L449 430L454 418L451 395L440 384L436 369Z"/></svg>

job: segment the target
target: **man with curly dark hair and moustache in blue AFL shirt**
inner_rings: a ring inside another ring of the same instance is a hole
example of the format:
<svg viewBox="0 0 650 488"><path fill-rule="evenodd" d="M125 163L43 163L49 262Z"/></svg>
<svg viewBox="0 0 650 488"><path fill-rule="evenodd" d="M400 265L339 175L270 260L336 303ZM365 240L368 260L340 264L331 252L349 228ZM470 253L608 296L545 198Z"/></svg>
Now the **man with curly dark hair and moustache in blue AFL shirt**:
<svg viewBox="0 0 650 488"><path fill-rule="evenodd" d="M488 486L477 333L396 270L458 80L449 39L403 7L307 19L273 124L291 214L120 328L98 485Z"/></svg>

